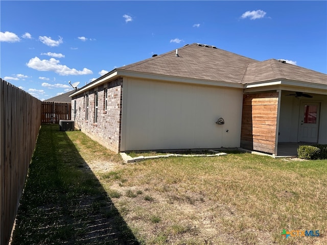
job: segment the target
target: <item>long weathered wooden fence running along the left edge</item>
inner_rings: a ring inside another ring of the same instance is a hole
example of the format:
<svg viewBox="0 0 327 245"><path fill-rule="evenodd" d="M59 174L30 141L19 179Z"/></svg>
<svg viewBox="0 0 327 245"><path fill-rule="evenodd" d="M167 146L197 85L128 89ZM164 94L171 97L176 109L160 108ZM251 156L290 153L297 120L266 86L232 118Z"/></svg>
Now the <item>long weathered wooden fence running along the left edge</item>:
<svg viewBox="0 0 327 245"><path fill-rule="evenodd" d="M0 245L9 242L41 125L41 101L0 79Z"/></svg>

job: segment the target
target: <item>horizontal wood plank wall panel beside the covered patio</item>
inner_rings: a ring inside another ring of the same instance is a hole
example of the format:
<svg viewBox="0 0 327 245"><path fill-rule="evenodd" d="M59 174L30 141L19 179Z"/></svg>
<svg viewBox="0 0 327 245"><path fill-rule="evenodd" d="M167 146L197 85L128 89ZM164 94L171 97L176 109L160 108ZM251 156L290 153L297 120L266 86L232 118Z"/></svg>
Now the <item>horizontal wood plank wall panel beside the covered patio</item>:
<svg viewBox="0 0 327 245"><path fill-rule="evenodd" d="M275 153L278 92L243 95L241 148Z"/></svg>

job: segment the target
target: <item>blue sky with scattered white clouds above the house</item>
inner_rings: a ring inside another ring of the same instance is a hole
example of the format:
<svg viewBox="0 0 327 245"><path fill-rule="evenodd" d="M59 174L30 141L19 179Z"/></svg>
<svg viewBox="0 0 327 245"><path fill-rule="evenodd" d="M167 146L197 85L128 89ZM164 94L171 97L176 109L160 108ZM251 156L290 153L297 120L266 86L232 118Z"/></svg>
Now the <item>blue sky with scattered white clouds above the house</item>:
<svg viewBox="0 0 327 245"><path fill-rule="evenodd" d="M40 100L203 43L327 73L326 1L0 1L0 76Z"/></svg>

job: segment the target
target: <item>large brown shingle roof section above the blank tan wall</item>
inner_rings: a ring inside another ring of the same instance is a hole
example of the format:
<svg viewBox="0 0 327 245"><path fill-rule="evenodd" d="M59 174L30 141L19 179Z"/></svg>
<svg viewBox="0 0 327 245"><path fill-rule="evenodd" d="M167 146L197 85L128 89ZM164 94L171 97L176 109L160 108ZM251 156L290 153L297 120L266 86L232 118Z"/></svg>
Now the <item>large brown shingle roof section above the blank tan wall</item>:
<svg viewBox="0 0 327 245"><path fill-rule="evenodd" d="M118 68L157 75L241 83L246 67L258 62L213 46L193 43L166 54Z"/></svg>

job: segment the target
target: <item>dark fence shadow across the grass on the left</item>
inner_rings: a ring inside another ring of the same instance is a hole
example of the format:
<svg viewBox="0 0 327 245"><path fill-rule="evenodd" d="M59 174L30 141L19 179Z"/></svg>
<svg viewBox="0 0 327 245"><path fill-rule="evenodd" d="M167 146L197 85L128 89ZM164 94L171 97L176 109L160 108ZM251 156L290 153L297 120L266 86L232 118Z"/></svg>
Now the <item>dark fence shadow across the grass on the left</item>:
<svg viewBox="0 0 327 245"><path fill-rule="evenodd" d="M66 133L42 125L11 244L139 243Z"/></svg>

